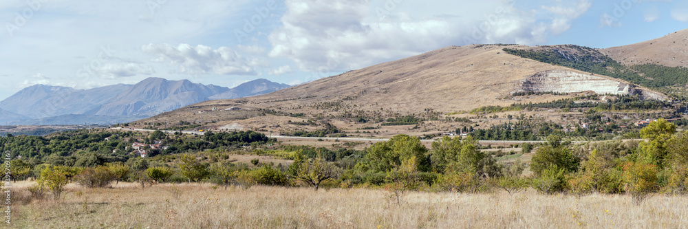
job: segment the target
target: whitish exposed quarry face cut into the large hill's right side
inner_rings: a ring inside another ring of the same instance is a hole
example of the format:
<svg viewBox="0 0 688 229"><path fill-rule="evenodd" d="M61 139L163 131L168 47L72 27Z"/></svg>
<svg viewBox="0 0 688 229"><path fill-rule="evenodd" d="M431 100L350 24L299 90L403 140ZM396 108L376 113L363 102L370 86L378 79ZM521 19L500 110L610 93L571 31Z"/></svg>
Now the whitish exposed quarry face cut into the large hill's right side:
<svg viewBox="0 0 688 229"><path fill-rule="evenodd" d="M515 92L558 92L575 93L594 91L596 94L614 94L641 96L642 99L665 100L666 96L656 91L638 87L606 76L581 74L562 70L539 72L521 80L521 85Z"/></svg>

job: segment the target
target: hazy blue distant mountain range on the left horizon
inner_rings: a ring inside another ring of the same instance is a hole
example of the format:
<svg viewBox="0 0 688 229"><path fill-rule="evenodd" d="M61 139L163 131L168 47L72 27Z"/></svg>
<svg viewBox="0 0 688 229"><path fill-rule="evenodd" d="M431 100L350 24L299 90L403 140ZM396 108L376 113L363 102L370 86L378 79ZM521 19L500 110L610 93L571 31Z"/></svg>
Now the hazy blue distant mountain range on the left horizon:
<svg viewBox="0 0 688 229"><path fill-rule="evenodd" d="M128 122L206 100L257 96L288 87L266 79L230 89L164 78L94 89L33 85L0 101L0 124Z"/></svg>

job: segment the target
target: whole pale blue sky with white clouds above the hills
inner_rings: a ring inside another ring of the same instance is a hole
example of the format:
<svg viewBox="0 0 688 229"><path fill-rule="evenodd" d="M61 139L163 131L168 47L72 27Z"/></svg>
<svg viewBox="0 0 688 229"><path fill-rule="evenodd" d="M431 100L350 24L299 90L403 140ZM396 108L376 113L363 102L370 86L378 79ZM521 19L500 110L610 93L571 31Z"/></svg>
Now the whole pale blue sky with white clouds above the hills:
<svg viewBox="0 0 688 229"><path fill-rule="evenodd" d="M290 85L450 45L613 47L688 28L678 0L2 0L0 100L148 77Z"/></svg>

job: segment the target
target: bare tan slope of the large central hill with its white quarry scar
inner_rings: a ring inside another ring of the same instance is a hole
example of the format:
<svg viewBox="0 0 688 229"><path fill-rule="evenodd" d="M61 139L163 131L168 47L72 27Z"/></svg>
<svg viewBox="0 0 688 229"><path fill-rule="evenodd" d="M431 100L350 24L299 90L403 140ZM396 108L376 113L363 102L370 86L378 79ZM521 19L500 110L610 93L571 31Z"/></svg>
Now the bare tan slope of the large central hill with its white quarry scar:
<svg viewBox="0 0 688 229"><path fill-rule="evenodd" d="M510 47L528 48L522 45ZM502 48L504 45L445 47L271 94L200 102L142 121L169 117L169 121L175 122L173 117L191 117L198 111L215 107L219 110L241 107L351 117L362 112L367 116L385 116L383 112L421 113L427 109L449 113L487 105L543 102L557 97L535 96L515 100L512 94L518 91L595 91L599 94L641 94L663 98L661 94L623 80L521 58L506 54ZM211 117L208 114L203 116ZM215 118L212 120L224 120L223 116L212 117Z"/></svg>

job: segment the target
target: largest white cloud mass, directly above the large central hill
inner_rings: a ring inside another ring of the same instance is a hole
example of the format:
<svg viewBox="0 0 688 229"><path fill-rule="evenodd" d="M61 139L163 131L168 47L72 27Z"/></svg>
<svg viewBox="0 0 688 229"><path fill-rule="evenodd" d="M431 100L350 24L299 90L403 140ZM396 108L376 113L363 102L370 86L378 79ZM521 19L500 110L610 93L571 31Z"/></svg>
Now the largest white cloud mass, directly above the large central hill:
<svg viewBox="0 0 688 229"><path fill-rule="evenodd" d="M547 34L568 30L570 20L590 8L588 1L548 8L551 12L546 13L556 13L558 20L548 16L542 24L537 14L499 0L402 1L388 8L385 1L365 0L286 0L285 4L283 26L268 36L269 54L290 58L308 72L367 67L449 45L542 43ZM438 17L458 11L460 17Z"/></svg>

